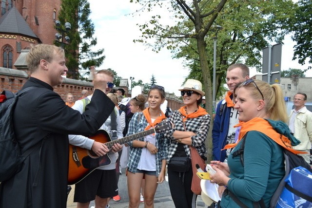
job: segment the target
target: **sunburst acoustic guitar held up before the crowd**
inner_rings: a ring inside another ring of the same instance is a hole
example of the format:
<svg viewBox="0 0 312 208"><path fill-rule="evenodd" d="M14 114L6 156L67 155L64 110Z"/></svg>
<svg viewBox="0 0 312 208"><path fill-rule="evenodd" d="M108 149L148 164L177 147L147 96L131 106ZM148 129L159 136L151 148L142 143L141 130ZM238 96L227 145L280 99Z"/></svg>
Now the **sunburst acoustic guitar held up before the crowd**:
<svg viewBox="0 0 312 208"><path fill-rule="evenodd" d="M133 140L147 136L152 133L164 132L171 130L171 123L164 122L158 124L155 128L146 130L144 132L138 132L121 139L111 140L109 134L104 130L98 130L97 133L90 136L90 139L94 139L97 142L104 143L108 149L112 149L114 144L126 144ZM108 154L104 156L98 156L94 151L80 148L74 145L69 145L69 168L68 168L68 184L73 185L81 181L93 170L109 165L111 159Z"/></svg>

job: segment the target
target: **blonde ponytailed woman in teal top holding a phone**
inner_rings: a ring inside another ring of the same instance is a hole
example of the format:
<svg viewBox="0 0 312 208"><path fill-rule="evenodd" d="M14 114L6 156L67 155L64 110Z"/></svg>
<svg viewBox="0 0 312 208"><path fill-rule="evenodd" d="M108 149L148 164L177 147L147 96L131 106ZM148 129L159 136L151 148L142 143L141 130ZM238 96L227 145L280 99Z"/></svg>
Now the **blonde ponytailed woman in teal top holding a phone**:
<svg viewBox="0 0 312 208"><path fill-rule="evenodd" d="M279 85L248 79L237 87L235 93L237 102L234 108L241 121L238 142L225 146L224 149L233 148L227 164L211 161L216 170L211 175L211 182L227 186L221 207L235 207L237 201L246 207L253 207L254 202L261 201L265 207L270 207L273 193L285 175L283 148L299 153L291 147L299 141L291 135L285 123L288 117Z"/></svg>

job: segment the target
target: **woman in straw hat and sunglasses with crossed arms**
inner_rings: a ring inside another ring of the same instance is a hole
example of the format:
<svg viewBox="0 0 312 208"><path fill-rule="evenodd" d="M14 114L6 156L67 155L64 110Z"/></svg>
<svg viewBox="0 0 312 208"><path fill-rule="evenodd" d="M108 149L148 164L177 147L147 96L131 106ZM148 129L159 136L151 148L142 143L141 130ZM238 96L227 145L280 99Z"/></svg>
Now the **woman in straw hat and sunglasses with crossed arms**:
<svg viewBox="0 0 312 208"><path fill-rule="evenodd" d="M191 158L189 146L195 147L199 155L206 160L205 140L207 137L210 115L199 105L202 96L201 83L195 79L188 79L183 89L180 89L183 98L182 106L170 117L173 130L165 132L168 142L168 179L172 199L176 208L195 207L196 195L191 190L193 170L192 166L185 171L173 170L170 160L173 157Z"/></svg>

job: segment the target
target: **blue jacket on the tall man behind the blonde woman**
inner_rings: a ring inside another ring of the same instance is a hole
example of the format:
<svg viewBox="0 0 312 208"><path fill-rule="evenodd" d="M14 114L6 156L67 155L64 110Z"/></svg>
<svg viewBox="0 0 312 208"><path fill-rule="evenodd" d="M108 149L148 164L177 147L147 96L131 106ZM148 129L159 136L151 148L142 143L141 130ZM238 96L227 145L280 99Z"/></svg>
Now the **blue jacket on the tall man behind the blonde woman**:
<svg viewBox="0 0 312 208"><path fill-rule="evenodd" d="M231 95L232 98L233 95ZM224 104L223 111L220 107ZM213 156L214 160L223 162L226 157L226 150L221 151L226 145L226 139L229 132L231 108L226 106L225 100L221 100L216 108L214 128L213 128ZM220 115L221 114L221 115Z"/></svg>

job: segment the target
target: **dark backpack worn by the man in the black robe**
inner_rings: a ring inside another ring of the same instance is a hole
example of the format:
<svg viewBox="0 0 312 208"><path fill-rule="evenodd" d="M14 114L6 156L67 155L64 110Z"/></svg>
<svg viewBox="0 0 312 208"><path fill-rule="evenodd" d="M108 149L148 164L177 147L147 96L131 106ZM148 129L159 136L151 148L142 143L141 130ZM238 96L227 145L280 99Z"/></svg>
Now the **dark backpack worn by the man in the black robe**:
<svg viewBox="0 0 312 208"><path fill-rule="evenodd" d="M6 181L14 176L21 168L24 159L41 146L37 145L20 152L20 146L15 138L13 127L13 110L19 96L37 87L28 87L14 95L10 91L3 91L0 102L0 181Z"/></svg>

